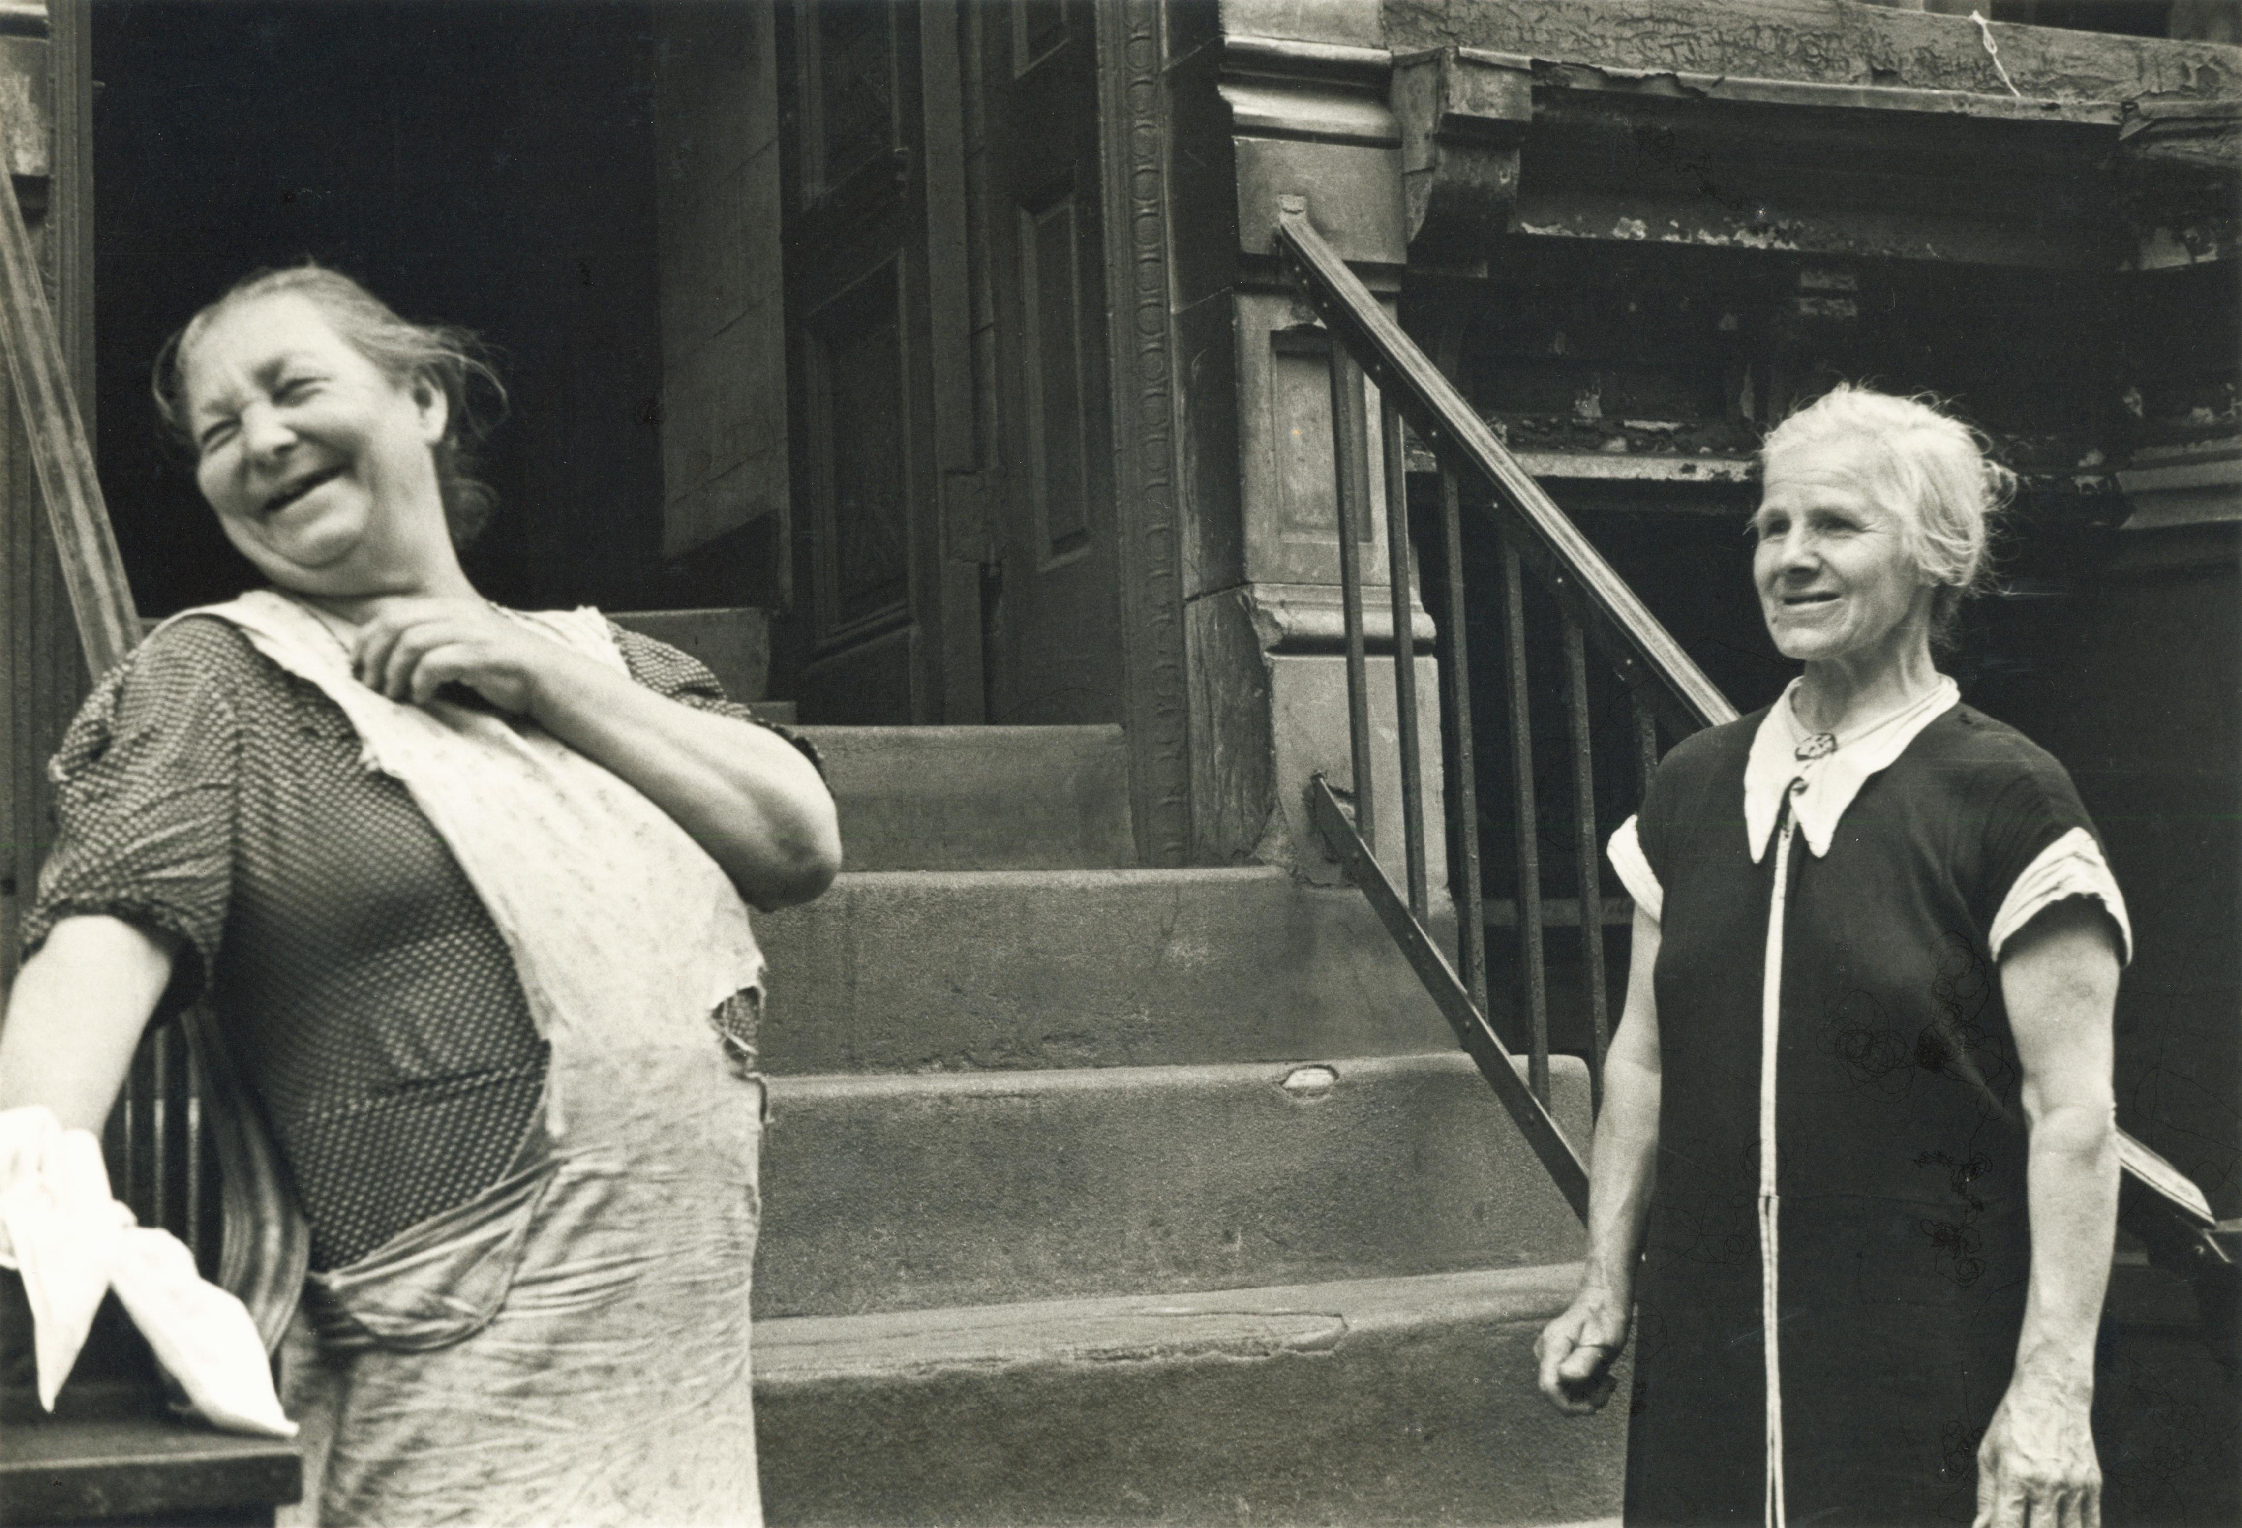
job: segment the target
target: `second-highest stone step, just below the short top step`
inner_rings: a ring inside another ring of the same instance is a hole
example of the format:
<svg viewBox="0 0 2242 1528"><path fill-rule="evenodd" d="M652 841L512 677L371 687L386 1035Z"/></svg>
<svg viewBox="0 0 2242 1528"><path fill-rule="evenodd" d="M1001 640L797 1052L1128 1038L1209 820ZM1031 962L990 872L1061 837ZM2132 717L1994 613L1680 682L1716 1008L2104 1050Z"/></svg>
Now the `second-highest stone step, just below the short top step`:
<svg viewBox="0 0 2242 1528"><path fill-rule="evenodd" d="M756 919L773 1073L1412 1055L1448 1024L1352 887L1282 869L843 874ZM1437 930L1453 945L1453 916Z"/></svg>

